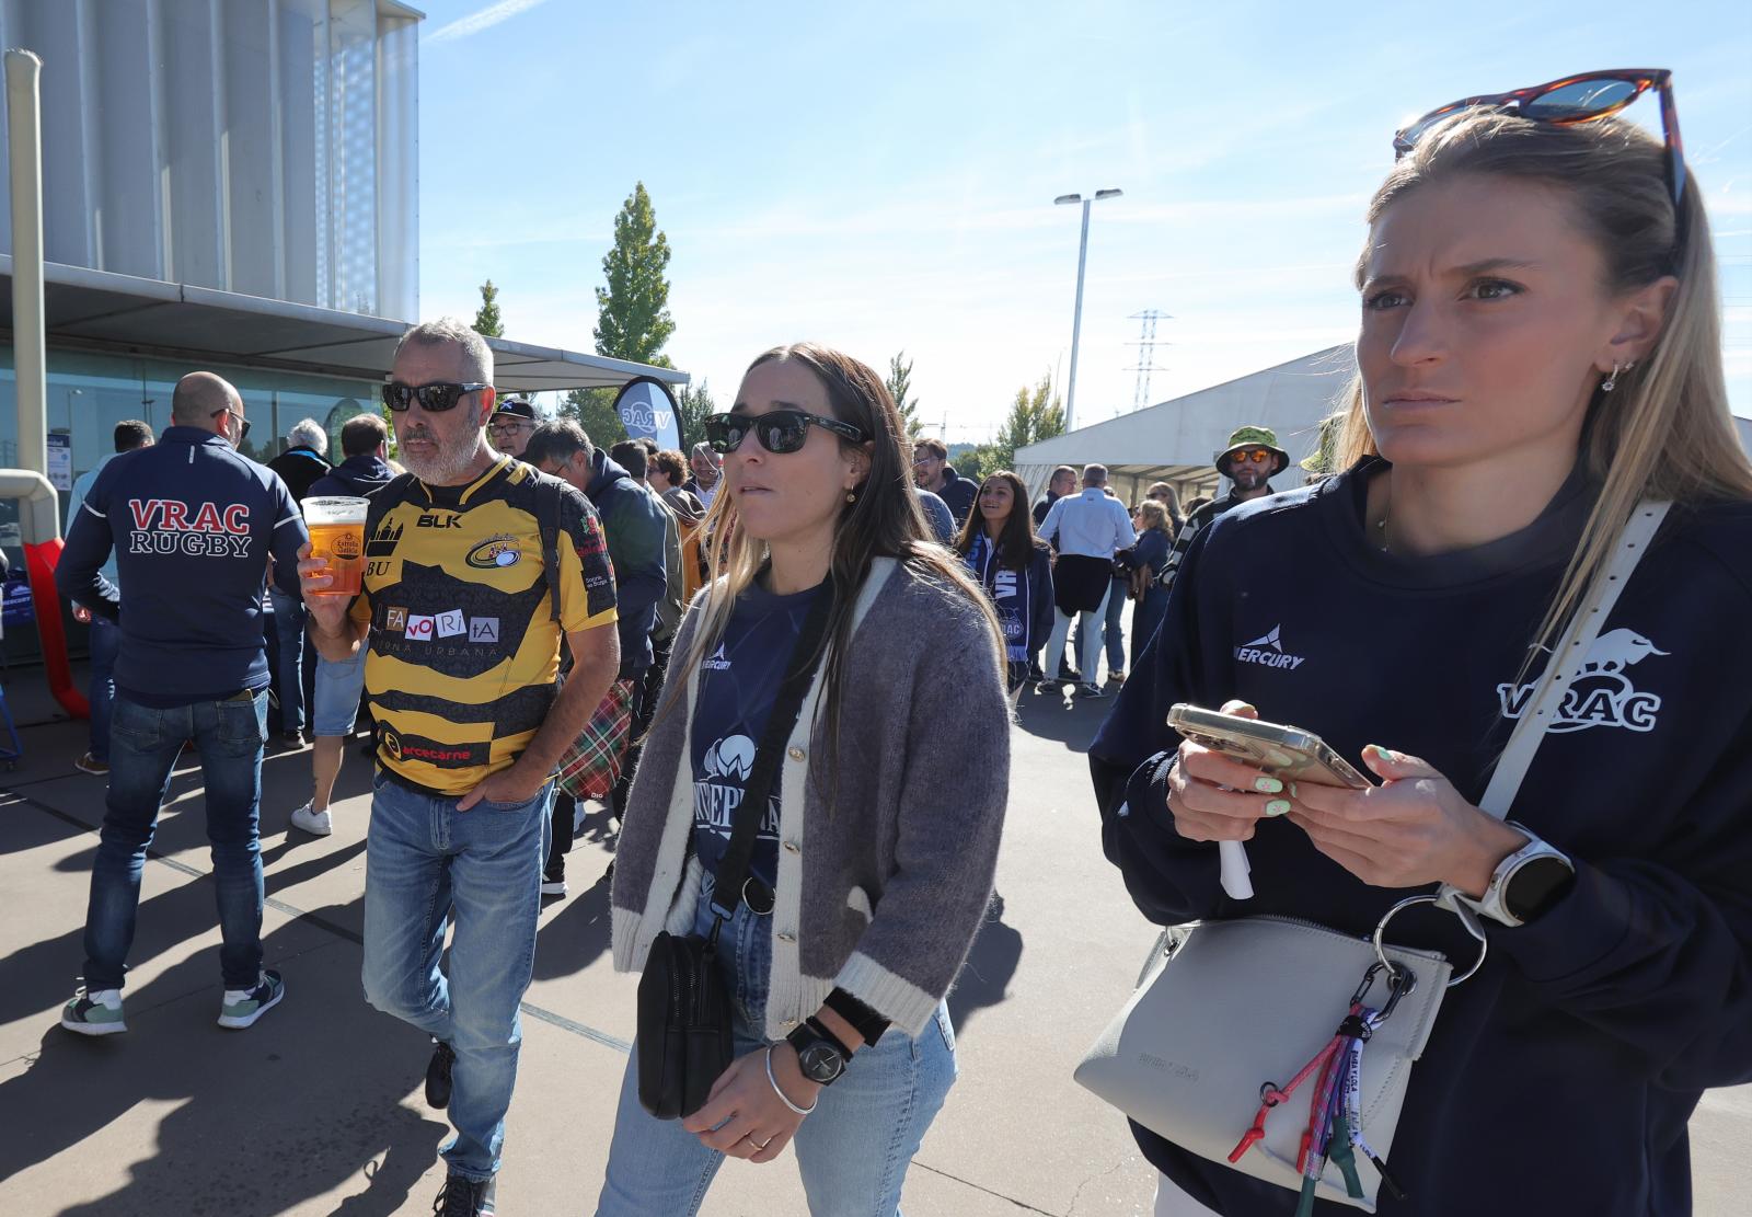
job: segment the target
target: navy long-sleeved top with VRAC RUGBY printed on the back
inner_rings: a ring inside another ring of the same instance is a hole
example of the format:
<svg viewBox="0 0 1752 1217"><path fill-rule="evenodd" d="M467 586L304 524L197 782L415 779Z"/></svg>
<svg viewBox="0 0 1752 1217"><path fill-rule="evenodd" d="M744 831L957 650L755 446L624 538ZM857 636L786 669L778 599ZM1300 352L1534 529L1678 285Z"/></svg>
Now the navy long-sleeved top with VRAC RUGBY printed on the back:
<svg viewBox="0 0 1752 1217"><path fill-rule="evenodd" d="M116 687L154 707L268 684L261 587L298 591L298 503L223 437L172 426L103 466L54 570L61 594L121 624ZM116 551L126 598L98 573Z"/></svg>

